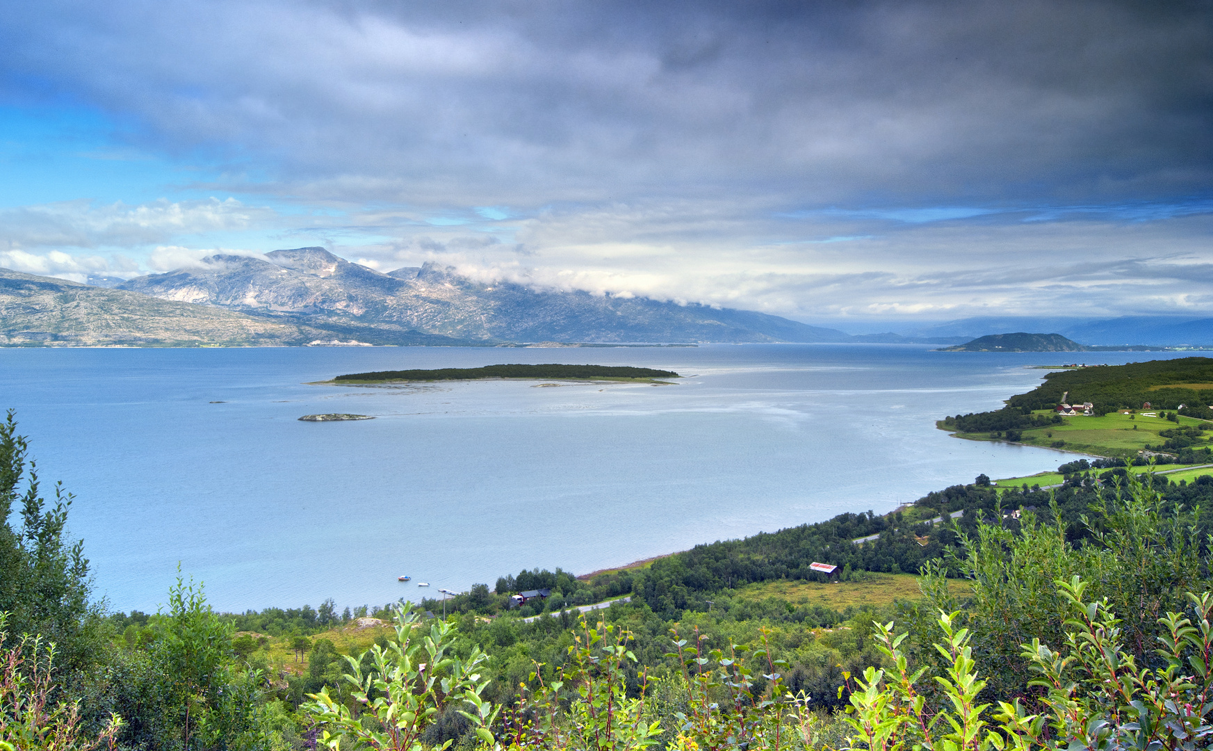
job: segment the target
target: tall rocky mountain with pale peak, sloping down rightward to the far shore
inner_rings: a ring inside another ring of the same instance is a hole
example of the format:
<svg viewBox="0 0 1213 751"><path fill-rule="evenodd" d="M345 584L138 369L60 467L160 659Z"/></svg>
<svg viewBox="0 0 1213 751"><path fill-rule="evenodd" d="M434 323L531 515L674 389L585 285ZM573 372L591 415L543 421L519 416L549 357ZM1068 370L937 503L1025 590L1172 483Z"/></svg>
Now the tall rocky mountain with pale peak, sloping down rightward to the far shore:
<svg viewBox="0 0 1213 751"><path fill-rule="evenodd" d="M264 257L216 255L198 267L139 277L119 289L287 318L349 335L422 331L507 342L848 342L836 329L778 315L645 297L537 291L482 283L435 263L388 274L323 248ZM366 340L369 341L369 340Z"/></svg>

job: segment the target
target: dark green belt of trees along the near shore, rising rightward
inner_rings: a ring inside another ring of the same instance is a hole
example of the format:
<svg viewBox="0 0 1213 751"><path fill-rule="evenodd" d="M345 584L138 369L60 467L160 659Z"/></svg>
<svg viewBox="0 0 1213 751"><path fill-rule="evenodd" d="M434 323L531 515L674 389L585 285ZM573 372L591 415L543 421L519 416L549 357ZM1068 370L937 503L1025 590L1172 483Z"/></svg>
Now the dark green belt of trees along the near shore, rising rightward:
<svg viewBox="0 0 1213 751"><path fill-rule="evenodd" d="M1197 451L1198 455L1202 455ZM889 516L842 513L814 524L802 524L775 533L759 533L741 540L696 545L689 551L654 561L647 568L611 571L583 581L557 569L523 570L517 576L497 579L496 587L475 585L471 592L449 598L446 613L494 615L508 609L508 596L526 590L551 590L546 599L531 601L518 609L523 616L602 602L623 594L644 602L662 619L674 620L688 611L707 611L721 592L748 584L774 580L826 581L810 567L814 562L839 567L842 580L865 573L916 573L927 562L955 554L962 534L972 534L983 520L1020 510L1053 519L1059 510L1066 523L1076 523L1101 491L1127 483L1129 462L1122 459L1080 459L1058 471L1065 483L1053 491L1036 488L1004 490L981 476L969 485L953 485L918 499L909 508ZM1134 466L1147 463L1144 459ZM1166 476L1145 478L1168 502L1201 507L1202 529L1213 533L1213 477L1196 483L1173 484ZM951 514L959 512L957 518ZM1077 527L1075 527L1077 529ZM1078 533L1071 533L1077 535ZM864 537L866 541L856 542ZM1072 536L1078 541L1078 536ZM440 611L440 599L422 601L425 609Z"/></svg>

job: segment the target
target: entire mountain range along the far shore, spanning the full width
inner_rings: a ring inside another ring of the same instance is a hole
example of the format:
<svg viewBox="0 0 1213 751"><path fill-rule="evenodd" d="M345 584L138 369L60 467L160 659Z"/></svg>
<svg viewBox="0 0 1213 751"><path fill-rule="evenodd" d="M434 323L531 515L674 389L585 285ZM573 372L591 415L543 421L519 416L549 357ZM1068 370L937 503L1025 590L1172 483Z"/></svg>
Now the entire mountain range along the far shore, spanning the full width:
<svg viewBox="0 0 1213 751"><path fill-rule="evenodd" d="M82 285L0 269L0 345L860 342L962 345L1055 331L1087 346L1213 345L1213 318L968 318L850 336L752 311L479 281L426 263L389 273L323 248L213 255Z"/></svg>

